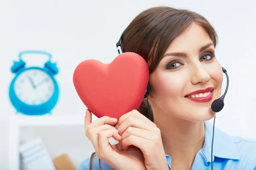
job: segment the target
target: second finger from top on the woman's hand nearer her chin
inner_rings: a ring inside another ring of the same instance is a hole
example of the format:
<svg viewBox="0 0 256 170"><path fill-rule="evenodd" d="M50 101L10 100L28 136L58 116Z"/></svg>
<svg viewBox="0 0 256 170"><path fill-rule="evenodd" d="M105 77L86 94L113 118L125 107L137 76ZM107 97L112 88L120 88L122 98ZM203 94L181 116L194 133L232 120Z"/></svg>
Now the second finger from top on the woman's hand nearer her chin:
<svg viewBox="0 0 256 170"><path fill-rule="evenodd" d="M117 128L117 130L119 131L119 135L122 136L122 133L124 133L124 131L128 127L131 127L131 126L141 128L144 130L149 130L149 131L154 131L157 128L155 126L148 124L147 122L145 122L141 119L138 119L137 117L130 116L130 117L128 117L128 119L126 119L124 122L122 122L122 124L120 124L119 127Z"/></svg>

